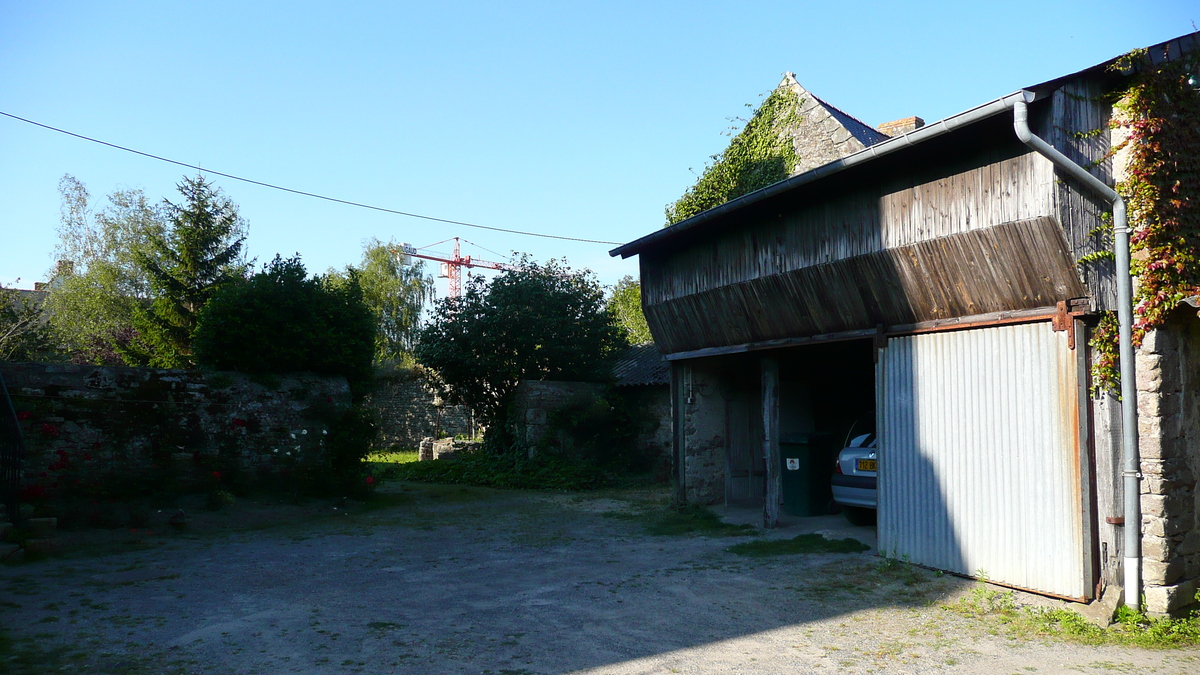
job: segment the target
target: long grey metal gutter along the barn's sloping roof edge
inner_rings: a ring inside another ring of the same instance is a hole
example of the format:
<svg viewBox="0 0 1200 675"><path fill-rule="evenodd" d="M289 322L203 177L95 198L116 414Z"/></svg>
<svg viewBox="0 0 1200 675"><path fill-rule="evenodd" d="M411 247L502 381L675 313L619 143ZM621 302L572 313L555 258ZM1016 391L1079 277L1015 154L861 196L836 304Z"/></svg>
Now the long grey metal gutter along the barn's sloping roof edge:
<svg viewBox="0 0 1200 675"><path fill-rule="evenodd" d="M750 192L749 195L743 195L742 197L726 202L719 207L713 207L707 211L697 214L685 221L672 225L671 227L664 227L662 229L659 229L658 232L652 232L650 234L647 234L641 239L635 239L629 244L620 245L608 251L608 255L613 257L620 256L623 258L636 256L637 253L640 253L641 251L643 251L649 246L653 246L666 239L671 239L704 222L719 219L731 211L736 211L738 209L749 207L750 204L756 204L764 199L769 199L770 197L774 197L782 192L794 190L800 185L806 185L809 183L821 180L827 175L839 173L856 165L869 162L876 157L882 157L883 155L890 155L892 153L895 153L898 150L904 150L905 148L917 145L918 143L924 143L925 141L929 141L931 138L937 138L938 136L944 136L959 127L974 124L979 120L991 118L1002 113L1007 113L1013 108L1013 104L1018 101L1022 103L1032 103L1039 97L1040 97L1039 94L1025 89L1020 91L1014 91L1008 96L996 98L995 101L991 101L989 103L984 103L982 106L971 108L970 110L948 117L943 120L938 120L934 124L923 126L914 131L910 131L908 133L905 133L902 136L896 136L895 138L890 138L882 143L876 143L875 145L864 148L854 153L853 155L847 155L840 160L834 160L812 171L804 172L799 175L793 175L792 178L781 180L774 185L768 185L767 187L763 187L762 190L756 190L754 192Z"/></svg>

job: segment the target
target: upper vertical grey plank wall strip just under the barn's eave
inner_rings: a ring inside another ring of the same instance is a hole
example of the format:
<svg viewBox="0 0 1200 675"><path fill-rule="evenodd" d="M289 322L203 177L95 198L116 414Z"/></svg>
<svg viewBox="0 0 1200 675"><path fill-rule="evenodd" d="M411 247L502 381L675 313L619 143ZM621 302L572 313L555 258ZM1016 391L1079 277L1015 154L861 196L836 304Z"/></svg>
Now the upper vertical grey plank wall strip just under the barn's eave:
<svg viewBox="0 0 1200 675"><path fill-rule="evenodd" d="M754 279L1054 213L1054 167L1026 153L918 181L814 201L776 219L731 226L720 237L642 253L647 305Z"/></svg>

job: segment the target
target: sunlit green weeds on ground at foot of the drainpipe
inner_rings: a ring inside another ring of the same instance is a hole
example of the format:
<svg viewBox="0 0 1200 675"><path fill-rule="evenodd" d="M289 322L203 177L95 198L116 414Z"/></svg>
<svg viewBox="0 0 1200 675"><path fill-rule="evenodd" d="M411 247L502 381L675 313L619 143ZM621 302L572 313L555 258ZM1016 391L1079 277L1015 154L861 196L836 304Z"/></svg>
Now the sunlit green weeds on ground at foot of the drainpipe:
<svg viewBox="0 0 1200 675"><path fill-rule="evenodd" d="M1200 592L1196 593L1200 603ZM1184 619L1154 619L1127 607L1117 609L1115 622L1102 628L1069 609L1019 607L1013 591L979 583L971 597L946 605L964 616L992 620L1018 635L1062 638L1086 645L1130 645L1144 649L1200 646L1200 610Z"/></svg>

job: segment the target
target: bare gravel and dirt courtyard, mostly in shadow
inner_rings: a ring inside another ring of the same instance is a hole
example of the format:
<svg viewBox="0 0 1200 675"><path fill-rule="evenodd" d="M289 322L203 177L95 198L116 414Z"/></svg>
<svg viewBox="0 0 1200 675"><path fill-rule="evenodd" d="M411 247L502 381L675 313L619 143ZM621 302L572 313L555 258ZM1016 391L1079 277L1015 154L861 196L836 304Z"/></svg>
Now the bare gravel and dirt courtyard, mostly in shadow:
<svg viewBox="0 0 1200 675"><path fill-rule="evenodd" d="M352 515L4 566L8 667L1200 673L1200 651L1014 640L938 604L970 583L874 551L746 558L725 551L737 539L653 537L605 515L660 496L410 486Z"/></svg>

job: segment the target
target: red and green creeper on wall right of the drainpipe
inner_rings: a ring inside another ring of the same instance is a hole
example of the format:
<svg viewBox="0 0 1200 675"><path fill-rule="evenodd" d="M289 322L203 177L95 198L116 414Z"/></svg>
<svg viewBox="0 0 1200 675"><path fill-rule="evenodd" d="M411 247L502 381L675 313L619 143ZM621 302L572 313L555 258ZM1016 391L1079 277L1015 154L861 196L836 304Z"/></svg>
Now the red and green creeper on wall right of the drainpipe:
<svg viewBox="0 0 1200 675"><path fill-rule="evenodd" d="M1154 66L1145 49L1114 70L1136 71L1118 91L1114 129L1126 132L1111 154L1128 151L1117 191L1129 217L1134 288L1134 345L1172 309L1200 294L1200 55ZM1117 323L1102 317L1091 341L1097 389L1117 389Z"/></svg>

